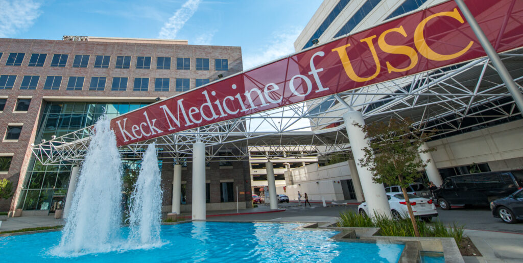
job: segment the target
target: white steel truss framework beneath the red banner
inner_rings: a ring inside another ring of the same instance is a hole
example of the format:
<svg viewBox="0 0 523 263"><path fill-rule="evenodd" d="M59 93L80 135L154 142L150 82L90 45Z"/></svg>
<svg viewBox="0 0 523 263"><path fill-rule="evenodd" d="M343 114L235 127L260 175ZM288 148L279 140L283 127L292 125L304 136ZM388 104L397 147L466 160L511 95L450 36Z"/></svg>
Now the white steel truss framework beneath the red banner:
<svg viewBox="0 0 523 263"><path fill-rule="evenodd" d="M523 90L523 49L499 55ZM265 147L260 157L269 159L284 152L299 152L297 157L345 152L350 144L342 115L350 108L360 110L367 123L409 118L422 130L438 127L436 136L521 116L495 68L483 58L122 146L120 152L123 159L141 158L152 141L164 163L190 159L197 141L207 145L208 162L218 157L248 159L249 150L256 147ZM471 119L476 121L464 121ZM90 142L90 129L42 142L32 152L43 164L79 163Z"/></svg>

